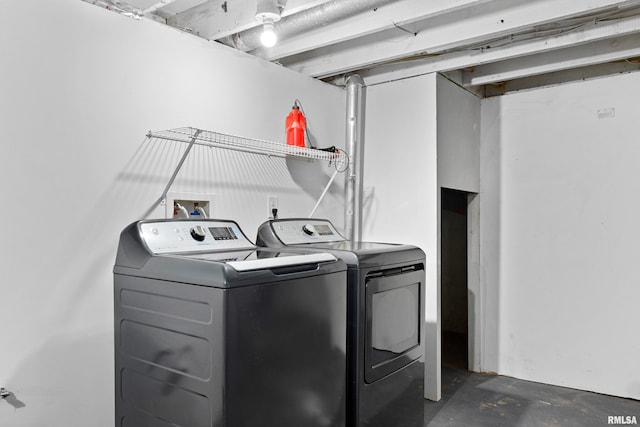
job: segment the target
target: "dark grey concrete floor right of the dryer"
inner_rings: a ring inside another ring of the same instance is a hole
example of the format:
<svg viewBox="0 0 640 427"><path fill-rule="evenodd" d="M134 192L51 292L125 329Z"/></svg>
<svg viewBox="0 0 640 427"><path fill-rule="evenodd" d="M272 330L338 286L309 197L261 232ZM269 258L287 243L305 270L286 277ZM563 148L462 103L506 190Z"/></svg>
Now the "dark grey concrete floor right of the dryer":
<svg viewBox="0 0 640 427"><path fill-rule="evenodd" d="M606 426L609 416L635 416L640 401L442 368L442 400L424 403L424 426Z"/></svg>

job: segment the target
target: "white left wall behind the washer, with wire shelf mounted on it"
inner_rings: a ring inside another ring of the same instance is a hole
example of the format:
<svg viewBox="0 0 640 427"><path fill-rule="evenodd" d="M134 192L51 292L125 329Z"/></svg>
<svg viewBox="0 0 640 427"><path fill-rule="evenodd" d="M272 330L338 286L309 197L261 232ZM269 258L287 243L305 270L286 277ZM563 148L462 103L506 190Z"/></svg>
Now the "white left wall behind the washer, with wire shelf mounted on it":
<svg viewBox="0 0 640 427"><path fill-rule="evenodd" d="M317 143L342 146L344 93L79 0L3 1L0 40L0 385L26 405L0 402L0 426L112 426L118 234L185 148L144 142L146 132L191 125L283 141L299 98ZM216 215L250 238L268 194L283 215L306 215L332 172L204 149L190 162L176 189L215 192ZM319 212L339 225L341 181Z"/></svg>

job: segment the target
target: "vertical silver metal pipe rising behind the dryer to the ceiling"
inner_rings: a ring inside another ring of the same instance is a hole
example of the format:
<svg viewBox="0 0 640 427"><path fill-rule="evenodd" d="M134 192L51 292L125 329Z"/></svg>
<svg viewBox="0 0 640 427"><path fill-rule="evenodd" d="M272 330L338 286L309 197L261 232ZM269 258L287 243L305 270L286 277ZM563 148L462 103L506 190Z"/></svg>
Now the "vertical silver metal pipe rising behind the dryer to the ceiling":
<svg viewBox="0 0 640 427"><path fill-rule="evenodd" d="M346 151L349 166L345 174L344 186L344 230L345 237L359 241L362 237L362 171L364 157L364 81L351 75L346 81L347 90L347 131Z"/></svg>

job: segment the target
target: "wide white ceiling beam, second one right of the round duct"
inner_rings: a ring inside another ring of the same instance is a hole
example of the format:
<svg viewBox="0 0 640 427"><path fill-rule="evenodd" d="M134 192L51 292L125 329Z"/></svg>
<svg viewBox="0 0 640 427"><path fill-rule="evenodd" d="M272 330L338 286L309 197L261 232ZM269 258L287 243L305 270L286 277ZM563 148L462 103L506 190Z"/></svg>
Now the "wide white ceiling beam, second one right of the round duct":
<svg viewBox="0 0 640 427"><path fill-rule="evenodd" d="M621 3L616 0L495 0L461 11L468 16L452 13L428 20L428 26L415 36L403 31L396 31L397 34L393 35L383 32L379 33L377 42L374 40L362 45L343 43L285 58L280 62L312 77L328 77L412 55L433 54L486 43L487 40L532 29L536 25L628 3L638 4L637 1ZM375 35L371 37L375 38Z"/></svg>

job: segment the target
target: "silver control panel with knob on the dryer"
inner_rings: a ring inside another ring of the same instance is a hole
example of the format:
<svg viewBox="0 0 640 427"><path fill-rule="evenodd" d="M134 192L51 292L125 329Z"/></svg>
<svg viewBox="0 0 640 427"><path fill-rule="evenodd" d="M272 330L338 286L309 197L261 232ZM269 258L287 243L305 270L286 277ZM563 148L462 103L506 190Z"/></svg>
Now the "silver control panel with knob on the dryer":
<svg viewBox="0 0 640 427"><path fill-rule="evenodd" d="M326 219L285 219L271 221L278 239L285 245L342 242L346 239Z"/></svg>

